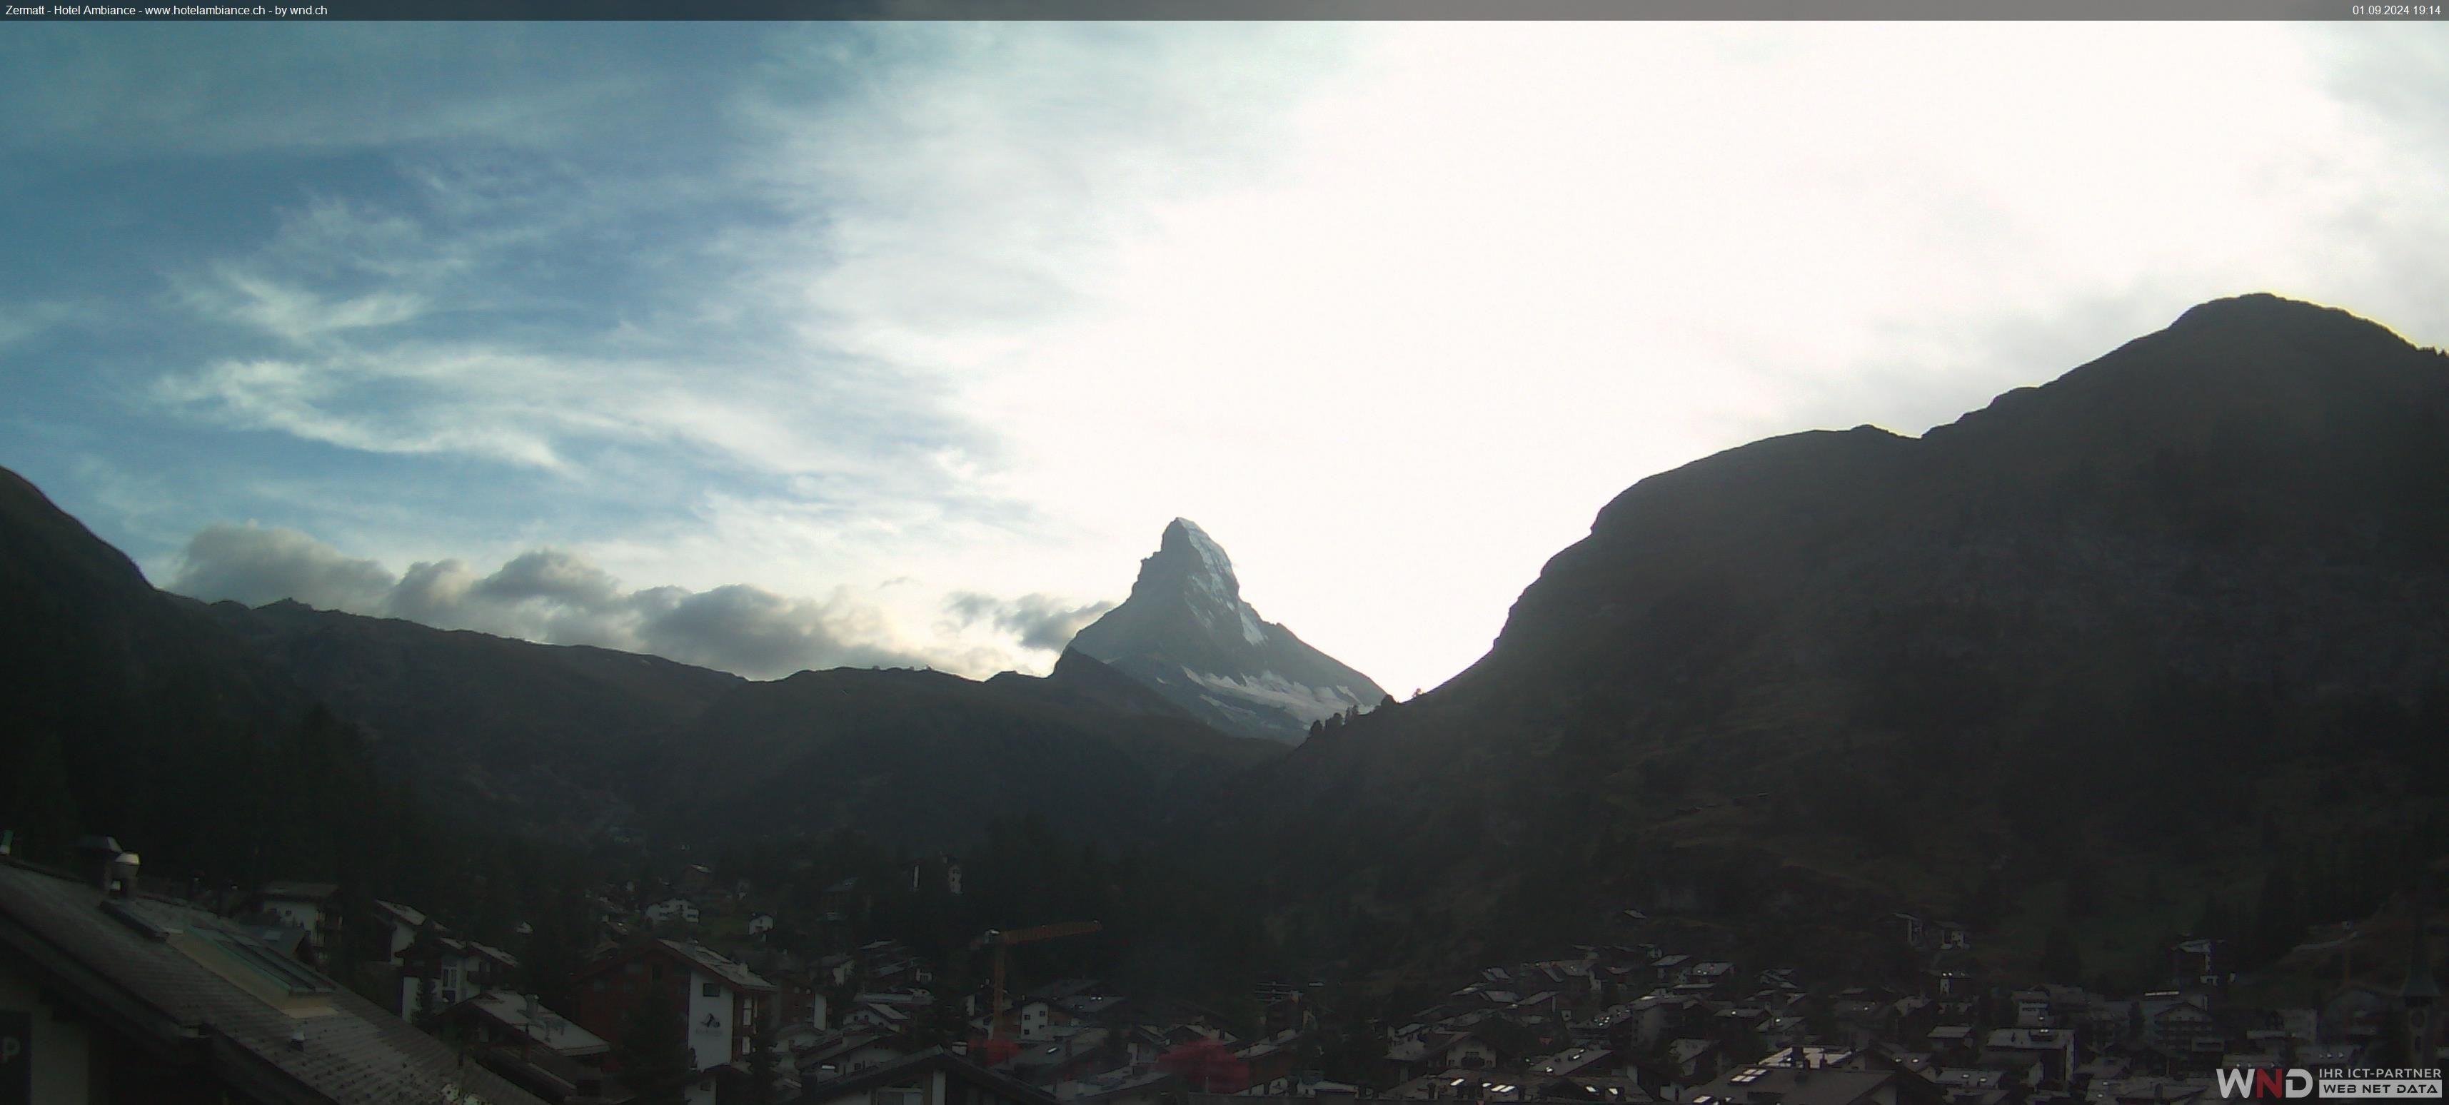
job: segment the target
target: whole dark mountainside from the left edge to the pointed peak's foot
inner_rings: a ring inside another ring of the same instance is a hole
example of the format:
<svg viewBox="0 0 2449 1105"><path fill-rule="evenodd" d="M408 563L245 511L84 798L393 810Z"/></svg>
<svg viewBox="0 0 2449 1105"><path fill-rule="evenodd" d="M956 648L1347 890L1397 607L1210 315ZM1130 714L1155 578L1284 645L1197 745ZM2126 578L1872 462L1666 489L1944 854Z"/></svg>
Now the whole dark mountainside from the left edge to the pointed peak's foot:
<svg viewBox="0 0 2449 1105"><path fill-rule="evenodd" d="M154 843L149 860L176 872L279 870L264 833L328 843L313 811L382 779L470 823L563 838L860 828L958 845L1029 813L1136 838L1283 752L1080 654L1046 679L840 669L754 684L299 603L208 608L154 590L5 470L0 603L0 752L17 764L0 826L47 850L83 831ZM311 740L296 735L309 715ZM328 794L289 794L291 777Z"/></svg>

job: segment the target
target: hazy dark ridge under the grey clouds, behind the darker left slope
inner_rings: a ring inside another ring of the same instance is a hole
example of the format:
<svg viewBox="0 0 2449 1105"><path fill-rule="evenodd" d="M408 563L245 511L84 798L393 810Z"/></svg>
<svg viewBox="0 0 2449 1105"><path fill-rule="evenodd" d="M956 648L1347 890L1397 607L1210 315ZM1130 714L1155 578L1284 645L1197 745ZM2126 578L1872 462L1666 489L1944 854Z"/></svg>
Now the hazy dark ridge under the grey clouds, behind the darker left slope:
<svg viewBox="0 0 2449 1105"><path fill-rule="evenodd" d="M1281 752L1215 733L1080 654L1046 679L835 669L747 681L299 603L213 613L360 720L382 762L438 801L571 838L860 828L958 845L1026 813L1129 835Z"/></svg>

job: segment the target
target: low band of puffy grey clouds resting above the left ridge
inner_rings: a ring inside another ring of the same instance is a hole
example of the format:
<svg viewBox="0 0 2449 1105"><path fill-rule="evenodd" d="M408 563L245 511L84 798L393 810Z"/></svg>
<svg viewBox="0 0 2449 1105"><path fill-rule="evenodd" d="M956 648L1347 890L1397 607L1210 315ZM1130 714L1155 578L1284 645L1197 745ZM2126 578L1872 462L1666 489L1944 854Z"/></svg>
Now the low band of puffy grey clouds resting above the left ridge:
<svg viewBox="0 0 2449 1105"><path fill-rule="evenodd" d="M189 539L171 590L247 605L299 603L446 630L478 630L546 644L649 652L752 679L830 666L943 666L987 674L992 647L909 647L879 608L850 590L793 598L730 583L627 590L607 571L558 551L524 551L480 576L465 561L419 561L407 573L353 559L296 529L213 524ZM1060 617L1043 595L997 615L1016 635ZM1043 644L1026 644L1043 647Z"/></svg>

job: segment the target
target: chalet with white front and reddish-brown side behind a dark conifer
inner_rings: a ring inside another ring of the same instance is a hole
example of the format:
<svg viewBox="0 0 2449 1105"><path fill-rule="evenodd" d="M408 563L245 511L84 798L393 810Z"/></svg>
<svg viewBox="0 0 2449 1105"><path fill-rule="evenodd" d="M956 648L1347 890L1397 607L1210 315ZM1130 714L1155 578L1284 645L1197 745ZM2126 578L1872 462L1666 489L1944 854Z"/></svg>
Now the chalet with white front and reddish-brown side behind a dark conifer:
<svg viewBox="0 0 2449 1105"><path fill-rule="evenodd" d="M771 982L698 943L632 943L578 968L578 1024L598 1036L620 1039L649 1000L688 1024L698 1071L747 1058L774 1014Z"/></svg>

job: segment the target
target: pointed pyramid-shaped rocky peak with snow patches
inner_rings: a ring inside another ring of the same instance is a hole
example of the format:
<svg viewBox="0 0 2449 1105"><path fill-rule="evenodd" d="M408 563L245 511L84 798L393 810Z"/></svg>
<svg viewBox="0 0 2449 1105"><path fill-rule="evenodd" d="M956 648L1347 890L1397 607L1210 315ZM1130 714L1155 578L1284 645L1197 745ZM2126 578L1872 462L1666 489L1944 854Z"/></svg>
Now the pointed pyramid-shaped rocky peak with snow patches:
<svg viewBox="0 0 2449 1105"><path fill-rule="evenodd" d="M1386 698L1369 676L1261 620L1242 600L1224 549L1183 517L1139 561L1131 598L1070 647L1220 730L1296 745L1310 723Z"/></svg>

